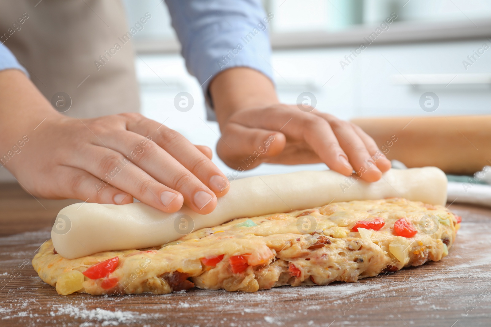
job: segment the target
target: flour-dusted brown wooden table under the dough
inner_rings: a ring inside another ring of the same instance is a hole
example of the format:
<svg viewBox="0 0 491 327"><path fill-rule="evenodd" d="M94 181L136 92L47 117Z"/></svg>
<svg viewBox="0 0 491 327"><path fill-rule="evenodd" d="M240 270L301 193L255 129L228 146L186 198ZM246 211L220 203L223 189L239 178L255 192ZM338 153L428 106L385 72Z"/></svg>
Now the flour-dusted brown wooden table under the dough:
<svg viewBox="0 0 491 327"><path fill-rule="evenodd" d="M453 204L463 223L447 257L358 283L63 297L30 260L70 201L38 202L15 185L0 196L0 326L491 326L490 209Z"/></svg>

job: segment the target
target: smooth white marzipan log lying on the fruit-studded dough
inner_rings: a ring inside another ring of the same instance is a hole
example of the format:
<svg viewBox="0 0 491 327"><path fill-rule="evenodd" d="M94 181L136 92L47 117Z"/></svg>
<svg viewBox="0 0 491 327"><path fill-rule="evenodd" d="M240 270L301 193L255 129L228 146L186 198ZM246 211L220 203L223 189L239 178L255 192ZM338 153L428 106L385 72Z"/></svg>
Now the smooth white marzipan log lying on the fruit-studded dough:
<svg viewBox="0 0 491 327"><path fill-rule="evenodd" d="M447 199L447 178L436 167L391 169L374 183L350 178L333 171L304 171L233 180L229 192L218 198L216 209L207 215L197 214L186 206L169 214L140 202L75 203L58 213L51 237L56 252L74 259L102 251L158 246L177 240L191 232L191 228L308 209L331 201L403 197L445 204Z"/></svg>

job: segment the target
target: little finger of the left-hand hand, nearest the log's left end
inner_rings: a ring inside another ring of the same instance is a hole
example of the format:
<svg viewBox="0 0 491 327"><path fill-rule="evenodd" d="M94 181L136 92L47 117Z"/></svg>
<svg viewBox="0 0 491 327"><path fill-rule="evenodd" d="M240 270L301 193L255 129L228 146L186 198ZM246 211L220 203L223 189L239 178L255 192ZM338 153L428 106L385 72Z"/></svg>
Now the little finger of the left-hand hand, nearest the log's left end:
<svg viewBox="0 0 491 327"><path fill-rule="evenodd" d="M133 202L133 196L111 185L84 170L58 166L56 176L61 181L57 186L59 196L79 199L85 202L127 204Z"/></svg>

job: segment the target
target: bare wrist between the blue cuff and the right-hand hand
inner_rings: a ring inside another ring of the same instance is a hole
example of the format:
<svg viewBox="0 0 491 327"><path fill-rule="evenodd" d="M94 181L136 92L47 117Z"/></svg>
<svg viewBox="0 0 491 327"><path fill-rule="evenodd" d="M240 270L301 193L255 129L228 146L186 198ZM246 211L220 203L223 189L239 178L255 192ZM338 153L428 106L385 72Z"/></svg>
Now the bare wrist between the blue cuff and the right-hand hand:
<svg viewBox="0 0 491 327"><path fill-rule="evenodd" d="M209 90L220 127L237 111L279 103L273 82L246 67L221 72L212 80Z"/></svg>

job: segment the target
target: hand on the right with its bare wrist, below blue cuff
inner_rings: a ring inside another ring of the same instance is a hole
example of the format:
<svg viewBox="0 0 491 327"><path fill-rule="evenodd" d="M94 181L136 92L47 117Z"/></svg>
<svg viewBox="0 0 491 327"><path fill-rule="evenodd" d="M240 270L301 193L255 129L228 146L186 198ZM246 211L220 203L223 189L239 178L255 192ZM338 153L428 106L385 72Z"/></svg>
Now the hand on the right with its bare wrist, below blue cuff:
<svg viewBox="0 0 491 327"><path fill-rule="evenodd" d="M271 80L253 69L223 71L211 81L210 94L222 132L218 156L231 168L324 162L346 176L355 170L369 182L390 169L361 128L317 110L279 104Z"/></svg>

